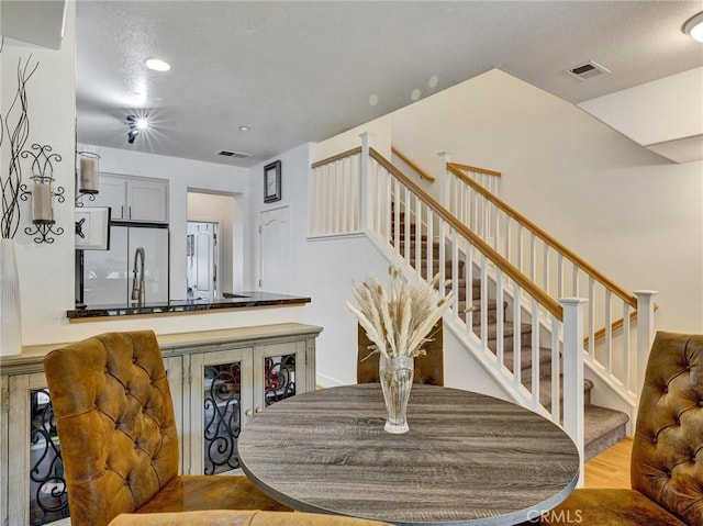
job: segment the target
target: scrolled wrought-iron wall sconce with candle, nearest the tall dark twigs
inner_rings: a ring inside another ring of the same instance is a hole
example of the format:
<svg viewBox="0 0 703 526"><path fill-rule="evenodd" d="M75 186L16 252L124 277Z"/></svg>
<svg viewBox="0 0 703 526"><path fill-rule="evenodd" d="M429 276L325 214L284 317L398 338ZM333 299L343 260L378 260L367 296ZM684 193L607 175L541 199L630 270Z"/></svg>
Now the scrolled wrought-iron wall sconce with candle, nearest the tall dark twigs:
<svg viewBox="0 0 703 526"><path fill-rule="evenodd" d="M32 149L25 149L20 154L23 159L32 158L32 189L26 184L20 186L20 199L26 201L32 195L32 223L33 226L24 228L29 236L35 236L34 243L54 243L54 237L60 236L64 228L55 226L53 198L59 203L65 201L64 187L54 189L54 165L60 163L62 156L52 154L49 145L33 144Z"/></svg>

